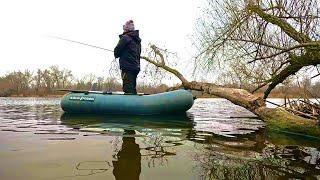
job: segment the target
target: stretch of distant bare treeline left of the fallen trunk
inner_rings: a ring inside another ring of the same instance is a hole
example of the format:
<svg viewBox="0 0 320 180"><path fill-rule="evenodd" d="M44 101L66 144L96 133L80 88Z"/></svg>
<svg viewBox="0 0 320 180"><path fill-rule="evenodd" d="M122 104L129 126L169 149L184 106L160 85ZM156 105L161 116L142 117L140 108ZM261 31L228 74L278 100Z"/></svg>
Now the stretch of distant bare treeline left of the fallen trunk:
<svg viewBox="0 0 320 180"><path fill-rule="evenodd" d="M121 91L122 83L116 78L97 77L93 74L75 78L68 69L51 66L47 69L14 71L0 77L0 96L48 96L62 95L57 89L89 90L97 83L98 90ZM161 85L138 85L139 92L157 93L168 89Z"/></svg>

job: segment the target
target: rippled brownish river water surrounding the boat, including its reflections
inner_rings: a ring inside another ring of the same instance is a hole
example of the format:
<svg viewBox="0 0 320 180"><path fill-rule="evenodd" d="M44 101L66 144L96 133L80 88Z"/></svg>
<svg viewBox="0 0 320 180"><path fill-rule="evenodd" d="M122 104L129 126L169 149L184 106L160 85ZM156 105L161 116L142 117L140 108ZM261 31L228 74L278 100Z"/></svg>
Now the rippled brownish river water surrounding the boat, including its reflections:
<svg viewBox="0 0 320 180"><path fill-rule="evenodd" d="M0 98L0 179L320 179L320 141L223 99L182 115L63 114L57 98Z"/></svg>

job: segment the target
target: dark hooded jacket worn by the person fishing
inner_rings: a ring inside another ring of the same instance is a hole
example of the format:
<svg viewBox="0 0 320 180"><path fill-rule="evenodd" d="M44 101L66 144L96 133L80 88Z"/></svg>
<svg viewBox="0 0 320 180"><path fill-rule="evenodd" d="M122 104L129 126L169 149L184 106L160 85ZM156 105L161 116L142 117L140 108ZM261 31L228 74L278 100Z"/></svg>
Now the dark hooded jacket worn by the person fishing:
<svg viewBox="0 0 320 180"><path fill-rule="evenodd" d="M120 69L133 73L140 71L141 39L139 31L129 31L119 35L120 40L114 48L114 57L120 58Z"/></svg>

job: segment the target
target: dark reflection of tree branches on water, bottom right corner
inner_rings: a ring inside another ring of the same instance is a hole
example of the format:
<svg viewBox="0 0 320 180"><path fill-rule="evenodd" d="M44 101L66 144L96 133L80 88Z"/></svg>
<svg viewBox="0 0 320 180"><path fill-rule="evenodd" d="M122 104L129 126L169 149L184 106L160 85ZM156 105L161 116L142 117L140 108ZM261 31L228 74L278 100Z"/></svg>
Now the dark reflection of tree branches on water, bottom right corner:
<svg viewBox="0 0 320 180"><path fill-rule="evenodd" d="M245 141L246 146L215 138L207 144L197 145L199 151L194 160L199 162L200 176L203 179L319 178L317 148L271 144L264 138L257 135L255 142Z"/></svg>

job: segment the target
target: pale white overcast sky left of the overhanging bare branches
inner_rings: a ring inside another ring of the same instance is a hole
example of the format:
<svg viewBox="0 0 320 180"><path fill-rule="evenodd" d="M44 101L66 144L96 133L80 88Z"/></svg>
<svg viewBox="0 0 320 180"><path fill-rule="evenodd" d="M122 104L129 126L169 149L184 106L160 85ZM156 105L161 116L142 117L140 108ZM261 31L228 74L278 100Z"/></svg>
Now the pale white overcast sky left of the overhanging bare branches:
<svg viewBox="0 0 320 180"><path fill-rule="evenodd" d="M199 4L200 0L0 1L0 75L51 65L70 69L76 77L107 75L112 53L48 36L113 49L129 19L140 30L144 47L154 43L187 60Z"/></svg>

